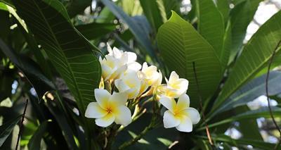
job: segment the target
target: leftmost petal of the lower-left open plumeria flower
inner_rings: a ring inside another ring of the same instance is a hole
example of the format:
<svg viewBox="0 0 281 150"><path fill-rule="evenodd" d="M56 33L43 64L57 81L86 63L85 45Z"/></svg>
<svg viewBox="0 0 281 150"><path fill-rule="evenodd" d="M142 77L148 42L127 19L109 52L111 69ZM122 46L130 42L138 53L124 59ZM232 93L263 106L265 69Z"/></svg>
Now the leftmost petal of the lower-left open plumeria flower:
<svg viewBox="0 0 281 150"><path fill-rule="evenodd" d="M91 102L86 108L86 118L102 118L107 114L103 108L97 102Z"/></svg>

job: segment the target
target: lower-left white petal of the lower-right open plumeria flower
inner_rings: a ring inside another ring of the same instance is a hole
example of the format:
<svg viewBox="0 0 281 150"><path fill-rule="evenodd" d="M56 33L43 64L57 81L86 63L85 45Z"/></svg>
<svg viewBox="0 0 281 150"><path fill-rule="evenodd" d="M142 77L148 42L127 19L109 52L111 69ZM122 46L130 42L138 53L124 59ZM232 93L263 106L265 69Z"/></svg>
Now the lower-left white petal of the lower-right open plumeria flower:
<svg viewBox="0 0 281 150"><path fill-rule="evenodd" d="M163 123L165 128L176 127L181 123L171 111L165 111L163 116Z"/></svg>

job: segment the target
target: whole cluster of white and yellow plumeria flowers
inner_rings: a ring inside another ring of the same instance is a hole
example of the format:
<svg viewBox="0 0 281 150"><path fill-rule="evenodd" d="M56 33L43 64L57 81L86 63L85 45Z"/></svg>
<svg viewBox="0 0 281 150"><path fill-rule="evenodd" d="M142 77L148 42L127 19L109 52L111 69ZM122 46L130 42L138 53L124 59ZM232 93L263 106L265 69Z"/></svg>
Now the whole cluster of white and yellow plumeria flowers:
<svg viewBox="0 0 281 150"><path fill-rule="evenodd" d="M155 65L136 62L132 52L111 49L100 58L102 80L100 88L95 89L96 102L86 108L86 118L96 118L96 125L108 127L113 122L129 125L132 121L131 110L145 96L152 96L168 110L164 112L164 127L176 127L181 132L191 132L192 124L200 121L200 114L190 108L187 94L188 80L179 78L172 72L166 84L162 84L162 73ZM177 101L176 101L177 99ZM136 108L135 108L136 113Z"/></svg>

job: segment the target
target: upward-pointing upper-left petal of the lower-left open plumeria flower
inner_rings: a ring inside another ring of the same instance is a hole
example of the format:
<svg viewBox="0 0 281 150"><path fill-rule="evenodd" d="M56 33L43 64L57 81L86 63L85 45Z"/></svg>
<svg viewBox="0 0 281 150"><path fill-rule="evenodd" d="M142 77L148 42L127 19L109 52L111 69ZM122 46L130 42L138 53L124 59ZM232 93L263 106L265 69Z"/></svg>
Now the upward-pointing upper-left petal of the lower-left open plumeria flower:
<svg viewBox="0 0 281 150"><path fill-rule="evenodd" d="M95 98L101 108L106 108L110 93L105 89L95 89Z"/></svg>

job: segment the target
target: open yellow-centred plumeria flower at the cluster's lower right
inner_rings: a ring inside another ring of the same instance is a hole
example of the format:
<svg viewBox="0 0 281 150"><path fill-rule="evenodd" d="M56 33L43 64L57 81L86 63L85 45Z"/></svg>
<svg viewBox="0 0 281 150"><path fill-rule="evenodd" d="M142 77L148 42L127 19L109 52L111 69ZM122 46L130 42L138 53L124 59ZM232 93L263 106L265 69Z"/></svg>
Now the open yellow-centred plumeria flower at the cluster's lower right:
<svg viewBox="0 0 281 150"><path fill-rule="evenodd" d="M192 132L192 125L200 121L198 111L189 107L190 99L187 94L179 96L177 103L166 96L162 96L159 102L168 109L163 116L165 128L176 127L181 132Z"/></svg>

